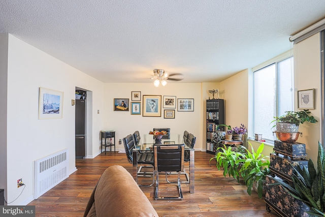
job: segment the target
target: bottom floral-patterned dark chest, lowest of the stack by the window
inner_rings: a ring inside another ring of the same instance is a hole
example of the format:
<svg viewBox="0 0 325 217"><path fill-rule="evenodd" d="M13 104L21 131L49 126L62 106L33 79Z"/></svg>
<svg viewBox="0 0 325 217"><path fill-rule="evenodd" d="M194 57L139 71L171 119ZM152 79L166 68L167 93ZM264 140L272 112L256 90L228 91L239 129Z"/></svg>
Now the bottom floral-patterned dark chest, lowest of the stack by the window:
<svg viewBox="0 0 325 217"><path fill-rule="evenodd" d="M280 216L308 216L309 207L305 203L291 196L282 185L270 185L271 183L277 183L277 179L279 177L273 178L270 175L266 177L267 192L264 200L267 211L270 212L271 207Z"/></svg>

